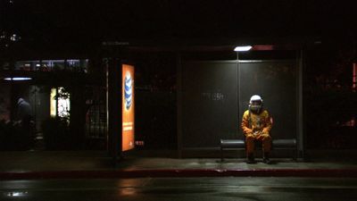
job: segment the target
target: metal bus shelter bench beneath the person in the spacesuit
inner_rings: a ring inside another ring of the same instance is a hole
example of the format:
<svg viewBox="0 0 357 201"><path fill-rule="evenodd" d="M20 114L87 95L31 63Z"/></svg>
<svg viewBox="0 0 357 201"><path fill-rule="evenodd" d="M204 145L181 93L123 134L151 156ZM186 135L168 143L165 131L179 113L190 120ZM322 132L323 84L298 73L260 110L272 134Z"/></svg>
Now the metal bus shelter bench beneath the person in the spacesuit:
<svg viewBox="0 0 357 201"><path fill-rule="evenodd" d="M294 151L293 159L297 158L297 147L295 138L273 139L272 150L289 149ZM224 150L245 150L244 139L220 139L220 161L223 161Z"/></svg>

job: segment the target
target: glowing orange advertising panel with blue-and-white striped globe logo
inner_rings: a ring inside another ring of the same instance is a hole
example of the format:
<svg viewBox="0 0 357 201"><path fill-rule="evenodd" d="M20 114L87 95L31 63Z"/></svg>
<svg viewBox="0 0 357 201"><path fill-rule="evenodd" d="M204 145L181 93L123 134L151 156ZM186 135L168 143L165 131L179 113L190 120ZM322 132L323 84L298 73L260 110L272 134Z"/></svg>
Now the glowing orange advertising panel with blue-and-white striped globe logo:
<svg viewBox="0 0 357 201"><path fill-rule="evenodd" d="M134 101L134 66L122 64L121 76L121 150L134 148L135 133L135 101Z"/></svg>

